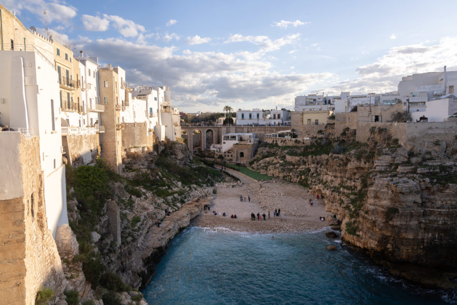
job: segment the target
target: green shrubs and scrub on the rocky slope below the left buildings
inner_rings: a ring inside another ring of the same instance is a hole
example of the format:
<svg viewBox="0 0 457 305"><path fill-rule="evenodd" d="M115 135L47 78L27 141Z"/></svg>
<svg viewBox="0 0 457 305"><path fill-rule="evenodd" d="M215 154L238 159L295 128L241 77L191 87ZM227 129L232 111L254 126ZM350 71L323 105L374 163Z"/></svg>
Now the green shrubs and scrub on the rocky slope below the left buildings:
<svg viewBox="0 0 457 305"><path fill-rule="evenodd" d="M138 214L136 202L149 202L155 215L148 217L151 225L165 216L165 209L172 212L190 200L193 189L212 187L221 177L219 171L199 161L184 158L184 162L178 162L173 145L166 143L159 153L151 151L148 160L143 155L130 156L122 176L103 159L97 159L93 166L67 166L69 220L79 242L79 255L74 261L82 263L85 278L107 303L117 302L113 293L133 290L112 272L111 264L121 255L120 249L144 233L141 226L146 224L146 215ZM121 211L119 246L107 231L107 200L115 200ZM97 234L100 237L94 239Z"/></svg>

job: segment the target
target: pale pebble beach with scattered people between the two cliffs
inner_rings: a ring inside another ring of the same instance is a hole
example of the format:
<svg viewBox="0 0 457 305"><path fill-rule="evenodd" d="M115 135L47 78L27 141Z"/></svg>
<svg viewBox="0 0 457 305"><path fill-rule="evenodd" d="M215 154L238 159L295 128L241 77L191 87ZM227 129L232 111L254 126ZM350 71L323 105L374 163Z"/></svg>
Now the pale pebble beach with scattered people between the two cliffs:
<svg viewBox="0 0 457 305"><path fill-rule="evenodd" d="M308 194L304 188L275 180L259 182L235 170L227 171L239 177L241 183L227 177L217 184L217 194L210 203L210 211L202 211L191 221L191 226L265 233L309 232L329 226L327 220L331 215L325 212L323 200ZM240 201L240 196L243 201ZM313 206L309 205L309 199L314 201ZM278 208L281 209L280 217L274 217L273 212ZM212 211L216 211L217 215L212 215ZM255 214L255 220L251 220L251 212ZM265 213L266 220L257 220L257 213ZM237 219L231 219L232 214L236 214ZM325 221L320 221L320 217L325 217Z"/></svg>

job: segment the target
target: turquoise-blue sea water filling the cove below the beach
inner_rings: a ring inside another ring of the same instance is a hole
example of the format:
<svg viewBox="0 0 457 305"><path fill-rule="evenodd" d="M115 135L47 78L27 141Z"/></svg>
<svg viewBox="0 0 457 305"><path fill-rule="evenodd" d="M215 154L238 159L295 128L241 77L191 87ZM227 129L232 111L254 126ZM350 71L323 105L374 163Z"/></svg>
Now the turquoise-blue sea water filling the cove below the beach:
<svg viewBox="0 0 457 305"><path fill-rule="evenodd" d="M395 279L324 231L274 236L186 228L172 240L144 297L160 305L457 304L457 291Z"/></svg>

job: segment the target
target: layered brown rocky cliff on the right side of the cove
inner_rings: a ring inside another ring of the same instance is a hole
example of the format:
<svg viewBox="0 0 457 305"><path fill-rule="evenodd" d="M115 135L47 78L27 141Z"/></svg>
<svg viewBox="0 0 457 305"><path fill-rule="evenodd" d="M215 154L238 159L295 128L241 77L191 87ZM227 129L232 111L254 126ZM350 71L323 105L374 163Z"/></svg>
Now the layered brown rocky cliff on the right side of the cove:
<svg viewBox="0 0 457 305"><path fill-rule="evenodd" d="M395 275L457 287L457 141L401 146L370 131L366 144L348 130L331 140L330 126L308 147L265 145L251 166L323 196L342 220L342 239Z"/></svg>

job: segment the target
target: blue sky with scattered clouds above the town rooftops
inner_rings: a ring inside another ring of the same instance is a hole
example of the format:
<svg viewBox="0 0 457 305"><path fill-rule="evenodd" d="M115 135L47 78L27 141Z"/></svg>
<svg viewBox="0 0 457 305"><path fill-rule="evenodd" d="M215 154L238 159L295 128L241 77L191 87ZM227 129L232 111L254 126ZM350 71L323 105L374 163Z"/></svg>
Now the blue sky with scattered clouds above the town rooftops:
<svg viewBox="0 0 457 305"><path fill-rule="evenodd" d="M292 109L298 95L397 90L457 70L457 1L0 0L184 112Z"/></svg>

